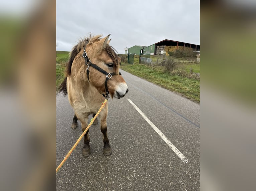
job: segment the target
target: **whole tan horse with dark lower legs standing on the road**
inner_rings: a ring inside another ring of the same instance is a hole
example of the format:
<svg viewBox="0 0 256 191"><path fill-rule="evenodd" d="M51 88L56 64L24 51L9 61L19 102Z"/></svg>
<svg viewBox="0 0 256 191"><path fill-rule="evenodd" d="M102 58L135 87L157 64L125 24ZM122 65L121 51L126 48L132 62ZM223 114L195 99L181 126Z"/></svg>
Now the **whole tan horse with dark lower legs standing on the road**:
<svg viewBox="0 0 256 191"><path fill-rule="evenodd" d="M109 96L124 97L128 93L128 86L119 72L121 59L116 50L109 45L109 36L102 35L80 39L70 52L66 63L65 79L58 88L58 92L66 96L74 109L72 128L77 128L77 120L82 124L82 131L88 125L88 116L99 110L102 102ZM103 153L111 155L112 149L107 136L108 102L99 114L100 129L103 134ZM82 154L91 154L89 131L84 135Z"/></svg>

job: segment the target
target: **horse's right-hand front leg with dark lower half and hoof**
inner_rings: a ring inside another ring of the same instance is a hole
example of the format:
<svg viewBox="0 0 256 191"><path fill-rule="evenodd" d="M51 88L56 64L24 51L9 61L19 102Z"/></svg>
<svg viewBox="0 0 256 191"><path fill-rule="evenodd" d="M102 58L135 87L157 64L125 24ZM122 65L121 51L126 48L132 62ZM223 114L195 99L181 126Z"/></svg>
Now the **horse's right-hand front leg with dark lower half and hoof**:
<svg viewBox="0 0 256 191"><path fill-rule="evenodd" d="M107 136L107 114L108 114L108 110L105 109L104 111L102 111L99 115L100 119L101 119L101 132L103 134L103 143L104 143L104 147L103 147L103 154L106 156L111 155L112 153L112 149L109 145L109 139Z"/></svg>

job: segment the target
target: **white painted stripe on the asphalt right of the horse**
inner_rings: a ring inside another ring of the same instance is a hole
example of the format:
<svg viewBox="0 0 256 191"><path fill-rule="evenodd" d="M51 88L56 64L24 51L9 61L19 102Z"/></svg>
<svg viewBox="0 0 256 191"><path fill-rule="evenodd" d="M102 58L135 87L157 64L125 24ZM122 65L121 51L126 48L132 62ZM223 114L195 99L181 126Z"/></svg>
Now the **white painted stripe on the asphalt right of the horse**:
<svg viewBox="0 0 256 191"><path fill-rule="evenodd" d="M150 124L150 126L157 132L157 134L166 142L166 144L175 152L175 154L184 162L188 163L189 161L187 160L186 157L169 141L169 139L152 123L152 121L147 118L147 116L130 100L128 101L132 104L132 106L141 114L141 116Z"/></svg>

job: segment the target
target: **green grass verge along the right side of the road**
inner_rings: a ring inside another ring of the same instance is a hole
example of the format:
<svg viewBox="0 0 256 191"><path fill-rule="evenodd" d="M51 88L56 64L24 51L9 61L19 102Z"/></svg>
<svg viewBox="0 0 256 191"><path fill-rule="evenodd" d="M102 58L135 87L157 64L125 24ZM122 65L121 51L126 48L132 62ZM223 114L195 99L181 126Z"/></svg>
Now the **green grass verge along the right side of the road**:
<svg viewBox="0 0 256 191"><path fill-rule="evenodd" d="M200 102L199 80L170 75L162 72L160 68L148 67L142 64L122 63L121 69L167 90L177 92L193 101Z"/></svg>

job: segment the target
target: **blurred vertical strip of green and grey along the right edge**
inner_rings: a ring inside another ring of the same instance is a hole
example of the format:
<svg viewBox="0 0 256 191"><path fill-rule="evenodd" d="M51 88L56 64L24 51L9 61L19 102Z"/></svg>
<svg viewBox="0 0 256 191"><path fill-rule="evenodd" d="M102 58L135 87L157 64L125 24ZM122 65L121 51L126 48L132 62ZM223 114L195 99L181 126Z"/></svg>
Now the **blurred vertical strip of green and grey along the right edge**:
<svg viewBox="0 0 256 191"><path fill-rule="evenodd" d="M200 185L255 190L256 1L200 5Z"/></svg>

